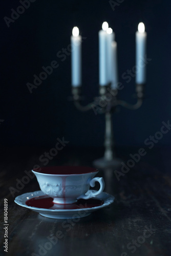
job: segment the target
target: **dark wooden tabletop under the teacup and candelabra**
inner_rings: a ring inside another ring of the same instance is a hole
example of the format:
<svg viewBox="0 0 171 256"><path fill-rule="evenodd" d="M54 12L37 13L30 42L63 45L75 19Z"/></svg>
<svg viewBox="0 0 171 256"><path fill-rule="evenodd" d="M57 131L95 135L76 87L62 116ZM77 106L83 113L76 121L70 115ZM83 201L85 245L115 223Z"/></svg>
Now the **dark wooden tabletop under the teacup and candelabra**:
<svg viewBox="0 0 171 256"><path fill-rule="evenodd" d="M39 190L36 178L16 188L47 148L2 148L1 150L1 255L171 255L171 150L153 148L141 157L120 180L115 169L100 170L104 191L114 203L78 222L48 219L14 203L23 193ZM117 148L125 162L138 148ZM64 148L48 165L86 165L102 156L96 148ZM41 163L42 165L42 163ZM42 165L43 166L43 165ZM117 168L120 171L120 168ZM4 251L4 199L8 199L8 252ZM53 245L48 237L57 236ZM41 248L41 250L40 250Z"/></svg>

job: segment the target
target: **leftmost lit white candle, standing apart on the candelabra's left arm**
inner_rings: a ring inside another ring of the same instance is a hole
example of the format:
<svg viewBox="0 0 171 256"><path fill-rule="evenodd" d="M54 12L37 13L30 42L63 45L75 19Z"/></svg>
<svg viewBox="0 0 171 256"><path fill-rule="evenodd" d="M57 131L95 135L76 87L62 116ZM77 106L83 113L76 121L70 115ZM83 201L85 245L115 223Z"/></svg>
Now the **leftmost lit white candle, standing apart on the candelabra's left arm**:
<svg viewBox="0 0 171 256"><path fill-rule="evenodd" d="M71 36L71 75L72 75L72 86L81 86L81 36L79 35L79 29L73 28Z"/></svg>

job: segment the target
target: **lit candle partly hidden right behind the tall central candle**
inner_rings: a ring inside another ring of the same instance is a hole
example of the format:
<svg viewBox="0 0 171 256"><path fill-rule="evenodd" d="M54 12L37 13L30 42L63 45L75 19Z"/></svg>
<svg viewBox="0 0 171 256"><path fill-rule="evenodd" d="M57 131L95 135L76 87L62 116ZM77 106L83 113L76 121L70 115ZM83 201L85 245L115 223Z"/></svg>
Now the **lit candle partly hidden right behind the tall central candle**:
<svg viewBox="0 0 171 256"><path fill-rule="evenodd" d="M108 28L106 30L107 33L107 58L108 58L108 64L107 64L107 72L108 72L108 83L112 81L112 72L111 72L111 67L112 67L112 61L113 61L113 56L112 56L112 42L115 40L115 33L111 28Z"/></svg>

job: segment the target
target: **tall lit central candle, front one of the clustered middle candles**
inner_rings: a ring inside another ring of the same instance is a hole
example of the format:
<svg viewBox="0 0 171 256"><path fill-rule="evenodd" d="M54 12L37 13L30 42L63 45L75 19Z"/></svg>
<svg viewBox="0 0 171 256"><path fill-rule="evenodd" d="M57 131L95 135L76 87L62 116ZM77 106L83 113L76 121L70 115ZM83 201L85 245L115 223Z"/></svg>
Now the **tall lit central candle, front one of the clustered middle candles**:
<svg viewBox="0 0 171 256"><path fill-rule="evenodd" d="M108 56L107 56L107 33L108 23L103 22L102 30L99 31L99 84L108 84Z"/></svg>

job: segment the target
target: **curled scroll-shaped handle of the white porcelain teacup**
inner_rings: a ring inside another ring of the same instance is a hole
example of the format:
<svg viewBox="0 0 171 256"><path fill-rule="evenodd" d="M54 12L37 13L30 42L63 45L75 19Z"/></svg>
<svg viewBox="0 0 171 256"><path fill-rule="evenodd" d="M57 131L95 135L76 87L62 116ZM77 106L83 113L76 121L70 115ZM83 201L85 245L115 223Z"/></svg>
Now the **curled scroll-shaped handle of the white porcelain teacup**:
<svg viewBox="0 0 171 256"><path fill-rule="evenodd" d="M95 186L95 182L98 181L100 183L100 188L98 191L94 191L94 190L88 190L87 193L85 195L81 195L80 197L78 197L77 199L89 199L92 197L96 197L99 194L102 193L102 191L104 190L104 180L102 177L95 177L90 181L90 186L94 187Z"/></svg>

